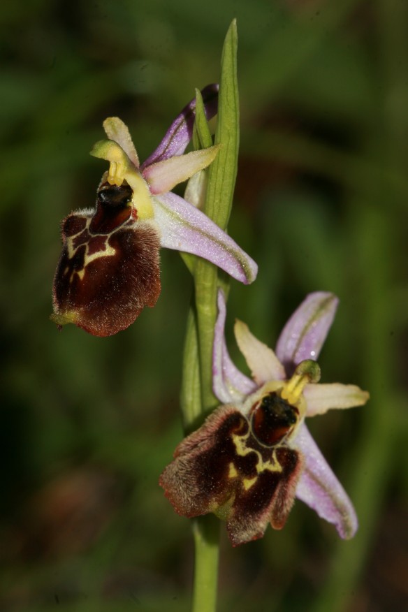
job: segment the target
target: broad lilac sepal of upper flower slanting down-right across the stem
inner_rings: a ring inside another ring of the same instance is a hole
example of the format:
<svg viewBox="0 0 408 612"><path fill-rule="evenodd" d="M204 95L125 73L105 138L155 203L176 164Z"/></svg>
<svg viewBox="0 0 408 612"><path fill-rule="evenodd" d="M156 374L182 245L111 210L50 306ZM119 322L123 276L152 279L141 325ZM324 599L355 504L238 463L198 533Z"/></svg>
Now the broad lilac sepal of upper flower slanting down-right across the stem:
<svg viewBox="0 0 408 612"><path fill-rule="evenodd" d="M203 257L244 284L254 281L254 260L201 210L171 191L155 196L152 203L162 247Z"/></svg>

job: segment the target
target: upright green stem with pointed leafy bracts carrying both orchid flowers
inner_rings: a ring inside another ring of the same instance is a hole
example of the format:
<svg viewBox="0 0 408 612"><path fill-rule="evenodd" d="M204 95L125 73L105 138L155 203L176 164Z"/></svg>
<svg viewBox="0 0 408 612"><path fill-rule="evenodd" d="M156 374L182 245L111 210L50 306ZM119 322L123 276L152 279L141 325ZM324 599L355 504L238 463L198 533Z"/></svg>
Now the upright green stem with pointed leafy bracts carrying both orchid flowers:
<svg viewBox="0 0 408 612"><path fill-rule="evenodd" d="M222 58L219 108L215 143L221 150L208 173L204 212L222 229L231 212L238 166L239 111L236 71L237 29L235 21L228 29ZM197 94L194 142L210 144L203 105ZM185 258L184 258L185 259ZM217 320L217 268L201 258L187 259L194 277L194 305L187 321L182 379L182 414L187 433L201 425L203 418L217 406L212 392L212 344ZM219 560L219 520L213 515L194 520L193 612L215 612Z"/></svg>

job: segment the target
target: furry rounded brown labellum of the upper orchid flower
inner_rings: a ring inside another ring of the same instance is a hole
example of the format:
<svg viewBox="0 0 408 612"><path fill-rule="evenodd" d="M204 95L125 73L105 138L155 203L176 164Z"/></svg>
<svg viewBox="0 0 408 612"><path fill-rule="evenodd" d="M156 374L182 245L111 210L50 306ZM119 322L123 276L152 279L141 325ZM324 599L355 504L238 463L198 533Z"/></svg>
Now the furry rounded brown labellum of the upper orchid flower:
<svg viewBox="0 0 408 612"><path fill-rule="evenodd" d="M54 277L52 320L96 336L127 328L160 294L159 234L138 221L133 191L101 184L94 210L62 222L63 248Z"/></svg>

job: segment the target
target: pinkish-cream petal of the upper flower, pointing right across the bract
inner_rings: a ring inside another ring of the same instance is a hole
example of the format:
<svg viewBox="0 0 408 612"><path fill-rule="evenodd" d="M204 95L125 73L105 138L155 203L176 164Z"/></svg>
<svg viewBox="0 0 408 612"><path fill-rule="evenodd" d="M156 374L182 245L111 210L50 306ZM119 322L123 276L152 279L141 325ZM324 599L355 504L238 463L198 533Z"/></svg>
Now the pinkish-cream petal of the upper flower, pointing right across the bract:
<svg viewBox="0 0 408 612"><path fill-rule="evenodd" d="M176 155L152 163L143 170L143 177L150 187L153 195L164 194L173 189L175 185L187 181L199 170L203 170L214 160L219 145L208 147L200 151L191 151L184 155Z"/></svg>

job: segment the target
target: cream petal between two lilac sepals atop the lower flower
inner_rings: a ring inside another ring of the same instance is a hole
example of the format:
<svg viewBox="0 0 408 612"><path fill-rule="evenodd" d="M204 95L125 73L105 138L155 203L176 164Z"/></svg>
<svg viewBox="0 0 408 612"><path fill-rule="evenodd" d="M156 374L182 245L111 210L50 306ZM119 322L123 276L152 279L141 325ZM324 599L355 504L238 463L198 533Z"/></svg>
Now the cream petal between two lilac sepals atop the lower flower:
<svg viewBox="0 0 408 612"><path fill-rule="evenodd" d="M238 347L258 386L286 378L284 367L275 353L252 335L245 323L235 321L234 332Z"/></svg>

